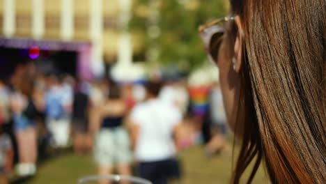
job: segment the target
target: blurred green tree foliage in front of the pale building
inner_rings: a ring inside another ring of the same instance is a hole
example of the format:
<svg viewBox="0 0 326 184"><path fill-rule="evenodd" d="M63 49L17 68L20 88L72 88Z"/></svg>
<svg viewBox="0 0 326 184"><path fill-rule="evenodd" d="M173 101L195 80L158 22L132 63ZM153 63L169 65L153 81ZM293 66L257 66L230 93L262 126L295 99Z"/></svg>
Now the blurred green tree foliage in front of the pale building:
<svg viewBox="0 0 326 184"><path fill-rule="evenodd" d="M140 10L148 10L149 1L134 2L134 16L131 23L134 31L147 33L148 13L139 12L139 7L142 7ZM201 66L205 61L205 52L197 31L198 26L212 18L225 16L227 9L226 0L161 0L158 22L161 34L156 40L144 36L146 38L144 50L152 47L153 43L158 45L159 61L165 66L187 66L189 69Z"/></svg>

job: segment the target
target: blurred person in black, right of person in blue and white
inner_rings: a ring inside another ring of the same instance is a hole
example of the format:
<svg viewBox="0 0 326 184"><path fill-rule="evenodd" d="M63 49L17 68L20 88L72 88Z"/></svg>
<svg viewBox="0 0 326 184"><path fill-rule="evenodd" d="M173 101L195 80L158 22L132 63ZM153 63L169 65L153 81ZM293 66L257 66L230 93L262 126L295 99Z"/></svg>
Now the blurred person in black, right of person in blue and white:
<svg viewBox="0 0 326 184"><path fill-rule="evenodd" d="M88 116L90 102L82 82L75 86L72 102L72 141L76 153L88 151Z"/></svg>

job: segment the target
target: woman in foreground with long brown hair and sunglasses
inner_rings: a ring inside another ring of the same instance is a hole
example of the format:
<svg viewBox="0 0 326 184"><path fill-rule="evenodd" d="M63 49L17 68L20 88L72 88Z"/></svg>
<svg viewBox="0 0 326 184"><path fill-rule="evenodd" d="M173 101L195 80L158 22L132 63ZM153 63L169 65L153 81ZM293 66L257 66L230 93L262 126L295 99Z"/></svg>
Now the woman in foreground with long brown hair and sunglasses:
<svg viewBox="0 0 326 184"><path fill-rule="evenodd" d="M326 1L231 0L200 33L242 139L233 183L262 160L272 183L325 183Z"/></svg>

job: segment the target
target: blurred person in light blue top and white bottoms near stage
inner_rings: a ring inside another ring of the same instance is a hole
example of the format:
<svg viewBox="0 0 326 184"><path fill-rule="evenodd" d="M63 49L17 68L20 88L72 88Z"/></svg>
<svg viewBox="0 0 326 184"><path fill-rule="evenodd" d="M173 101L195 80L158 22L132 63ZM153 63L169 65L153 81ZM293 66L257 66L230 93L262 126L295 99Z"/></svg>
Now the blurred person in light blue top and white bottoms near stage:
<svg viewBox="0 0 326 184"><path fill-rule="evenodd" d="M45 93L47 128L52 136L52 146L64 148L69 140L72 95L69 94L68 88L63 88L56 75L50 75L47 82L49 85Z"/></svg>

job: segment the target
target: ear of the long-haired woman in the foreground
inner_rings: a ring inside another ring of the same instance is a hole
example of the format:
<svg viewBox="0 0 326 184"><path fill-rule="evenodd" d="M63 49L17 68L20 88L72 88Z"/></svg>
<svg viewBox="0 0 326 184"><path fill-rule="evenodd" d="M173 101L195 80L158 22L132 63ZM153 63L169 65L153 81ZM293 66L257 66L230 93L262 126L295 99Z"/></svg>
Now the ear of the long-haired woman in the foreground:
<svg viewBox="0 0 326 184"><path fill-rule="evenodd" d="M240 20L239 16L235 17L235 25L238 28L237 37L235 38L235 44L234 44L234 58L233 58L233 68L235 72L239 73L242 67L242 45L244 41L244 32L242 29L242 22Z"/></svg>

